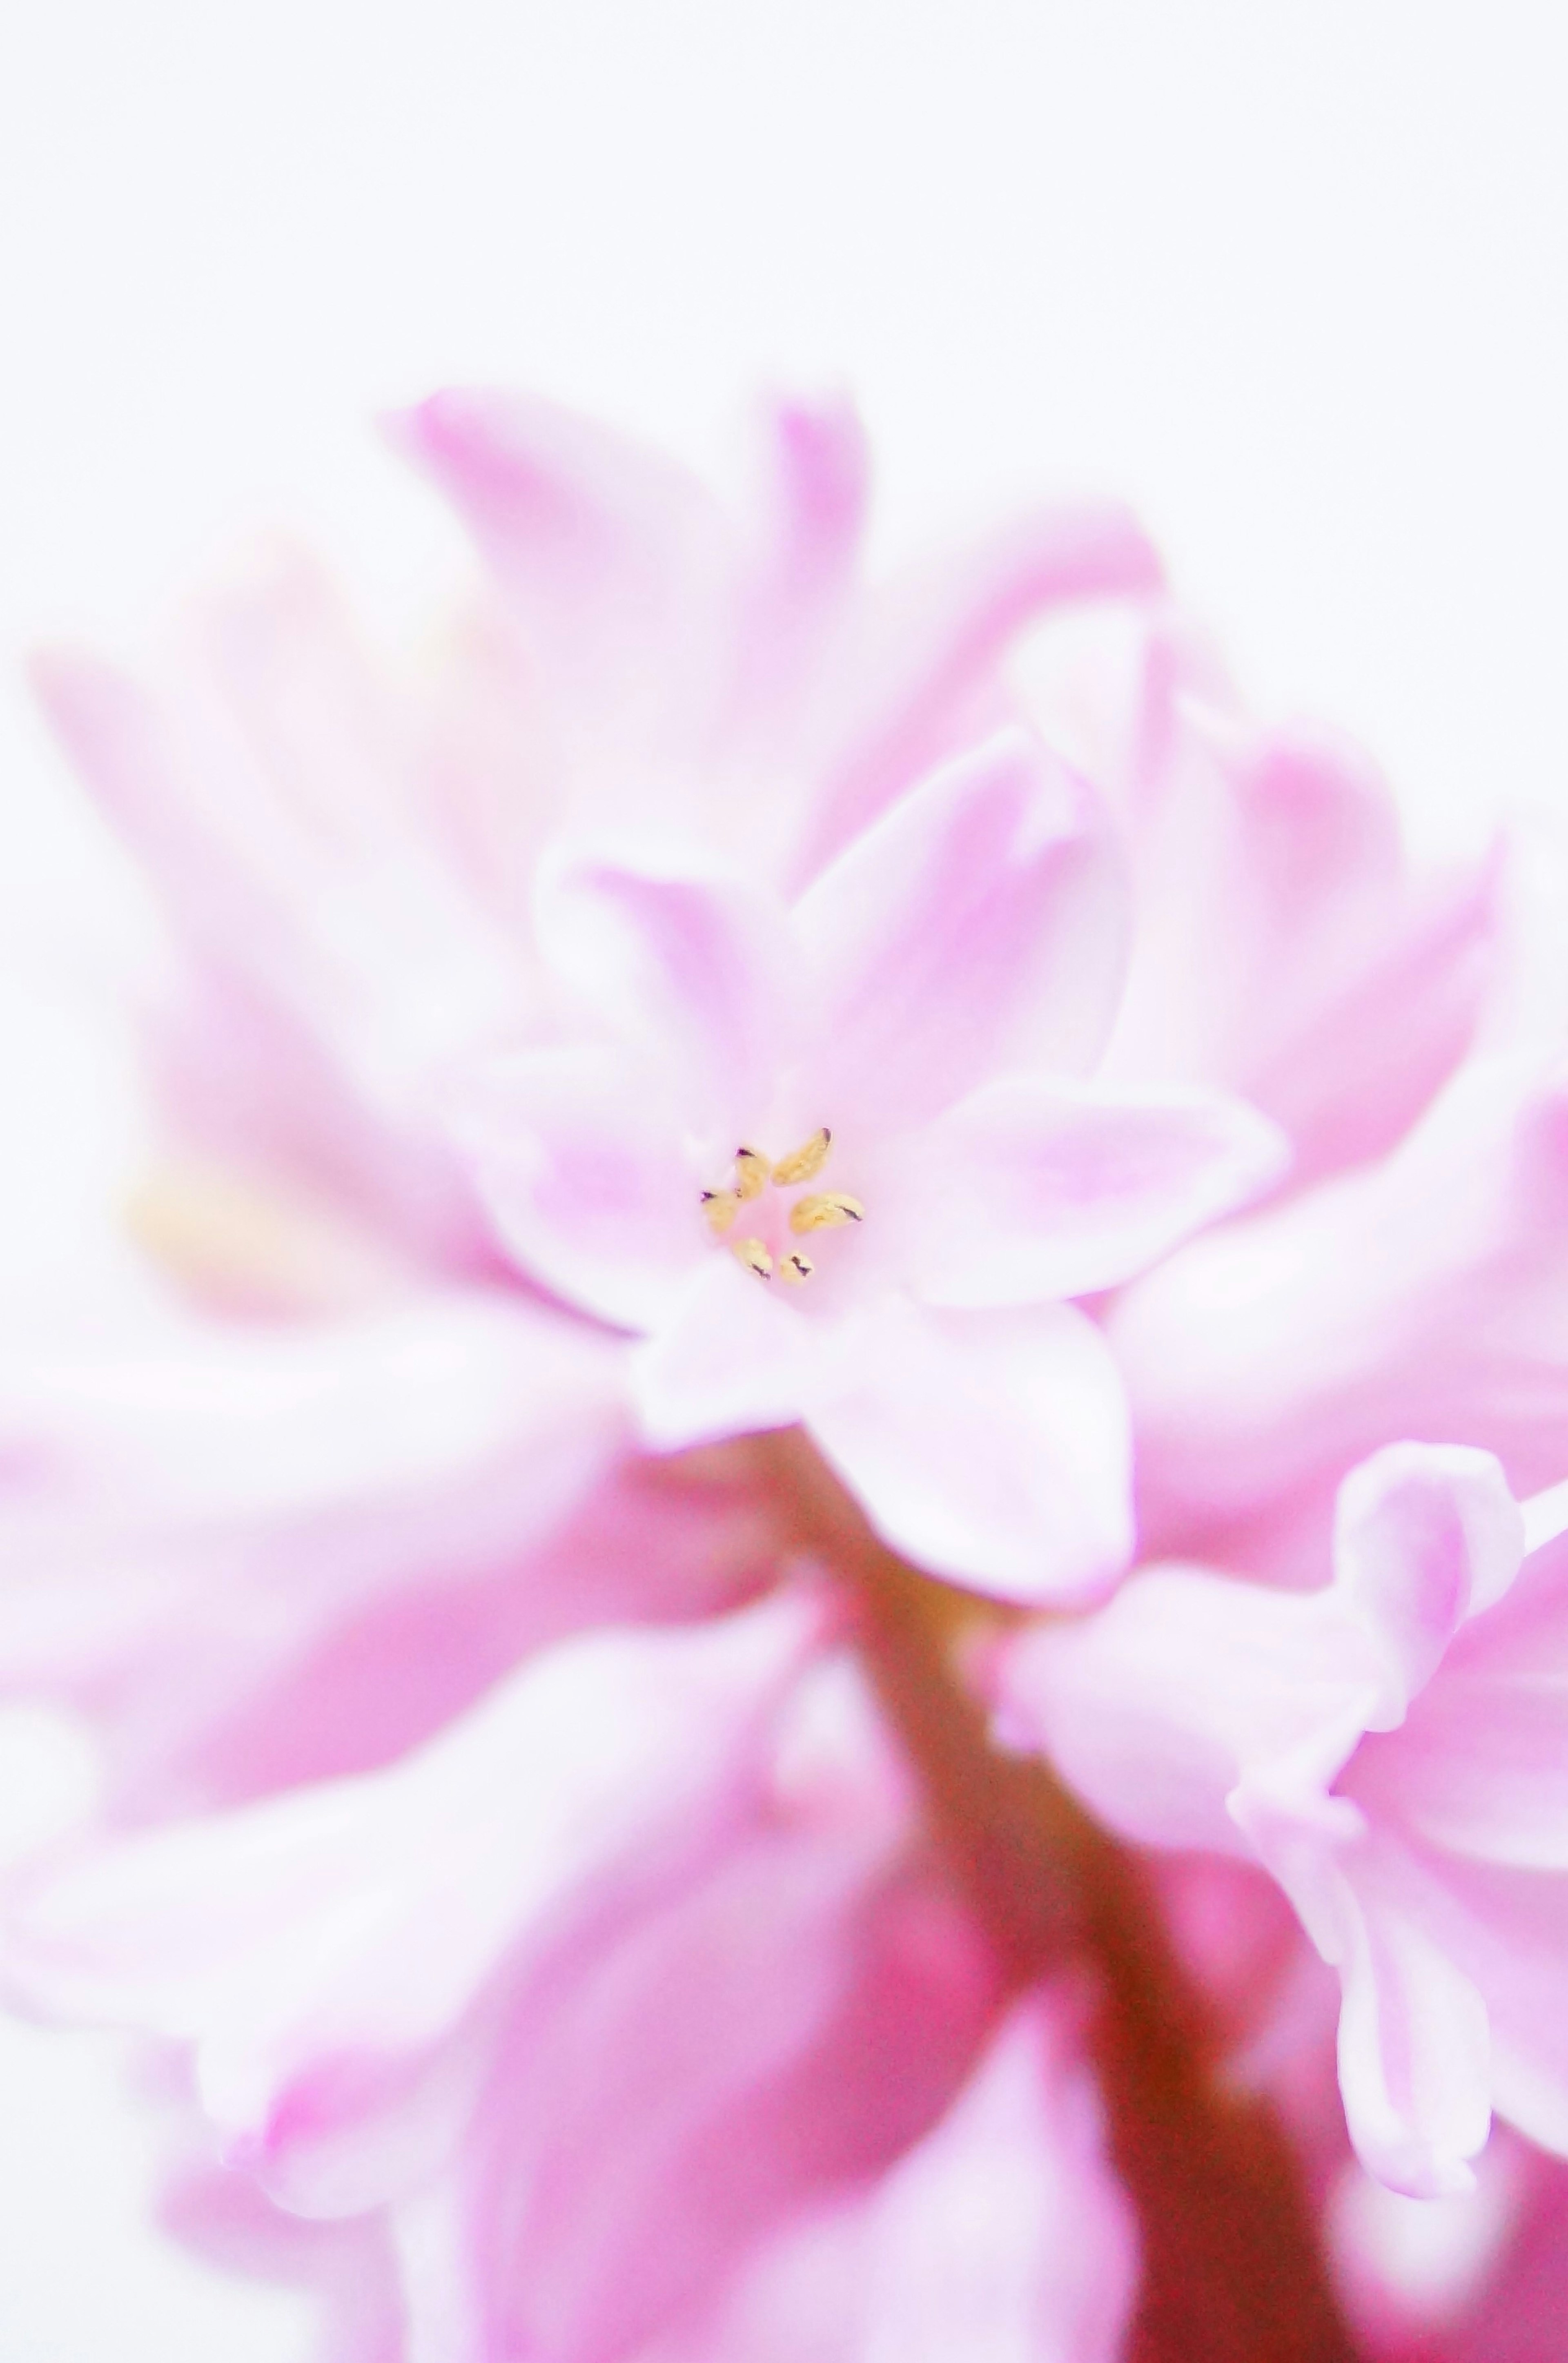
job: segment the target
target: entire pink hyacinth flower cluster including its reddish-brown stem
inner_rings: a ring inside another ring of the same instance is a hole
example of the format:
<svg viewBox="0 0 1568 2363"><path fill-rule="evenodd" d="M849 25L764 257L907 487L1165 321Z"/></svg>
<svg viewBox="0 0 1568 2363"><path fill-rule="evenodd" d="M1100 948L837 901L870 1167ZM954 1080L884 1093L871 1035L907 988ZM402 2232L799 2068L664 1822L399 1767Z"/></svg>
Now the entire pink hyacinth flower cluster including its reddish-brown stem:
<svg viewBox="0 0 1568 2363"><path fill-rule="evenodd" d="M878 581L836 406L397 440L425 662L283 553L38 669L165 952L0 1387L104 1763L9 1994L333 2363L1547 2363L1561 898L1117 508Z"/></svg>

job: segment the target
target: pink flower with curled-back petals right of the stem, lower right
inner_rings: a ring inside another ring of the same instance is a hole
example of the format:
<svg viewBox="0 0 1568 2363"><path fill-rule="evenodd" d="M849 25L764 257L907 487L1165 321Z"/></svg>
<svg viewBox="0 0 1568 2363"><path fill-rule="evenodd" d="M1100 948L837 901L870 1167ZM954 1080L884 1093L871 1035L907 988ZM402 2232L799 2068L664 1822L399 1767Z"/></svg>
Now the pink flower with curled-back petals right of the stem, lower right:
<svg viewBox="0 0 1568 2363"><path fill-rule="evenodd" d="M1568 1560L1523 1550L1490 1453L1389 1446L1339 1491L1325 1590L1150 1567L997 1668L1006 1734L1112 1827L1282 1883L1341 1978L1355 2148L1417 2195L1469 2186L1492 2103L1568 2150Z"/></svg>

